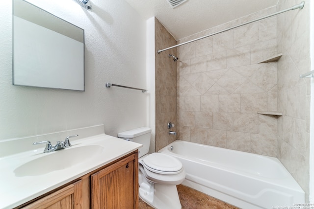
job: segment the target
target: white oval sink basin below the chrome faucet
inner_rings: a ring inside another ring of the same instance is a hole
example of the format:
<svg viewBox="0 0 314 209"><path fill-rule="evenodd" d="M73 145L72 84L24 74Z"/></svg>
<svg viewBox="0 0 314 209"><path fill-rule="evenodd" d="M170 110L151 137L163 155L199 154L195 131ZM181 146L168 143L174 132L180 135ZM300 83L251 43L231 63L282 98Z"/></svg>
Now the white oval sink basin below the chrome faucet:
<svg viewBox="0 0 314 209"><path fill-rule="evenodd" d="M71 147L43 153L42 157L29 161L14 170L15 176L38 176L55 170L62 170L90 160L103 151L99 145Z"/></svg>

